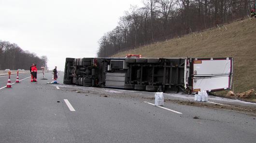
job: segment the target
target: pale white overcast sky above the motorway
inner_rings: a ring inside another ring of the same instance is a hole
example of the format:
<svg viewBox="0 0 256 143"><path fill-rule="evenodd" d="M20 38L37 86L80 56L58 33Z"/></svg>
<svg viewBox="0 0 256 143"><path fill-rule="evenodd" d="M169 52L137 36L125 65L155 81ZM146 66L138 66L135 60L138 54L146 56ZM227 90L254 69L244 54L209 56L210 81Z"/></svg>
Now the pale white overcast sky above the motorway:
<svg viewBox="0 0 256 143"><path fill-rule="evenodd" d="M141 0L0 0L0 40L48 57L64 70L65 58L96 57L98 40Z"/></svg>

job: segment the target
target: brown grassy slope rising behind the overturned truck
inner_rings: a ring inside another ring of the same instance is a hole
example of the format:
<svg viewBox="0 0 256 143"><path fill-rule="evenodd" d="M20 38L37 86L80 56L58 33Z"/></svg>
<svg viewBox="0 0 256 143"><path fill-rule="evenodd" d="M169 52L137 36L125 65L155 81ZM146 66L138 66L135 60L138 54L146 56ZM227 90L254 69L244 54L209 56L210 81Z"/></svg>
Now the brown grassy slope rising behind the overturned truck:
<svg viewBox="0 0 256 143"><path fill-rule="evenodd" d="M142 54L143 57L233 57L234 92L256 89L256 19L237 21L181 38L157 42L152 45L118 53Z"/></svg>

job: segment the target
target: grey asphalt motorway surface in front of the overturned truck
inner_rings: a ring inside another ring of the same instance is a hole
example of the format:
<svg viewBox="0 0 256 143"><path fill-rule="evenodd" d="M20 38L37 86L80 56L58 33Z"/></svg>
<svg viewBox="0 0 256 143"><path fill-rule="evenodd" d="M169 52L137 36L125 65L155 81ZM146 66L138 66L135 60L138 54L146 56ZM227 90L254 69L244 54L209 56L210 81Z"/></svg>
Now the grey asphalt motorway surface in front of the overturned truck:
<svg viewBox="0 0 256 143"><path fill-rule="evenodd" d="M20 79L28 76L21 75ZM28 78L13 84L12 89L0 90L1 143L256 141L254 115L171 103L165 103L164 109L145 103L154 103L149 99L104 97L97 94L99 88L77 93L76 86L68 90L62 84L62 73L60 84L46 84L51 82L51 76L47 73L49 80L38 83L30 83ZM38 76L41 78L42 74ZM0 87L6 82L0 77ZM199 119L193 119L194 116Z"/></svg>

